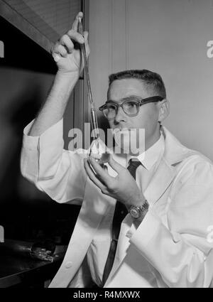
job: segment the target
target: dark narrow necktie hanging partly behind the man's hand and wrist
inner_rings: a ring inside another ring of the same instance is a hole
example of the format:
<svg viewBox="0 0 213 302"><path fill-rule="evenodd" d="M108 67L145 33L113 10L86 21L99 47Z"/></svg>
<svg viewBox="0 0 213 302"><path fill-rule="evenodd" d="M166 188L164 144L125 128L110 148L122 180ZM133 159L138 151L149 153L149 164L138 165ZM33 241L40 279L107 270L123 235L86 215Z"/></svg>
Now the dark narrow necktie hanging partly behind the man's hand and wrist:
<svg viewBox="0 0 213 302"><path fill-rule="evenodd" d="M131 173L131 176L133 176L134 179L136 179L136 169L138 166L141 165L140 161L137 160L130 160L129 161L129 166L127 169ZM114 262L114 257L116 254L116 247L119 239L119 232L121 229L121 222L124 220L124 217L128 211L126 210L126 206L124 203L120 203L119 200L116 201L116 207L114 210L114 217L113 217L113 222L112 222L112 229L111 229L111 245L109 249L109 254L107 257L107 262L104 266L104 273L103 273L103 279L102 279L102 284L104 286L105 282L107 281L107 278L109 276L109 273L111 271L113 262Z"/></svg>

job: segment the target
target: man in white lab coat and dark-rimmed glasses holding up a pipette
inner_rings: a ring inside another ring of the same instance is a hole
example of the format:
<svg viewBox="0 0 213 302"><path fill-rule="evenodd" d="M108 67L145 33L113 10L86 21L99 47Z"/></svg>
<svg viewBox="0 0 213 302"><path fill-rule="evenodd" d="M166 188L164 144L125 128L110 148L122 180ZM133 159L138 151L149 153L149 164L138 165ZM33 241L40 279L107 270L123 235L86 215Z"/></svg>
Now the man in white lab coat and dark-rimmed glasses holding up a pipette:
<svg viewBox="0 0 213 302"><path fill-rule="evenodd" d="M62 117L83 68L73 42L85 43L89 54L88 34L77 33L79 16L53 48L58 73L24 130L21 154L23 176L58 203L81 205L50 287L211 286L213 166L160 126L169 109L159 75L111 75L100 108L116 132L145 129L145 156L114 153L104 170L82 150L63 150ZM124 139L121 149L128 144Z"/></svg>

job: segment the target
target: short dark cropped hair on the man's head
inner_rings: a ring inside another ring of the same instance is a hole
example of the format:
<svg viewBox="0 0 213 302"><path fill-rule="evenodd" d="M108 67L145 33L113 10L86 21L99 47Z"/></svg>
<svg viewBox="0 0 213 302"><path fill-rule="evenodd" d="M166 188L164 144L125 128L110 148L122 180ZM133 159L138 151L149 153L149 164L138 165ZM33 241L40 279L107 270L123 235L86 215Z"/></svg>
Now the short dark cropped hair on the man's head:
<svg viewBox="0 0 213 302"><path fill-rule="evenodd" d="M158 73L150 70L124 70L121 72L112 73L109 75L109 86L115 80L123 79L138 79L147 85L147 88L151 88L160 97L166 98L165 85L162 77Z"/></svg>

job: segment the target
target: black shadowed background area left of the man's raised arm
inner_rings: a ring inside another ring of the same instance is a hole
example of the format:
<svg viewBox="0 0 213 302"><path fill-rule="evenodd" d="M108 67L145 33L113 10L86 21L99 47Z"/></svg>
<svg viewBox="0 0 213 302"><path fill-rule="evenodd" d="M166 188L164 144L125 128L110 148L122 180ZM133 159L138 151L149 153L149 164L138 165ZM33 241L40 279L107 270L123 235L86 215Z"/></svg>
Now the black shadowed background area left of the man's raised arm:
<svg viewBox="0 0 213 302"><path fill-rule="evenodd" d="M80 207L59 205L20 173L23 128L35 117L56 72L49 53L0 18L0 225L11 239L67 244Z"/></svg>

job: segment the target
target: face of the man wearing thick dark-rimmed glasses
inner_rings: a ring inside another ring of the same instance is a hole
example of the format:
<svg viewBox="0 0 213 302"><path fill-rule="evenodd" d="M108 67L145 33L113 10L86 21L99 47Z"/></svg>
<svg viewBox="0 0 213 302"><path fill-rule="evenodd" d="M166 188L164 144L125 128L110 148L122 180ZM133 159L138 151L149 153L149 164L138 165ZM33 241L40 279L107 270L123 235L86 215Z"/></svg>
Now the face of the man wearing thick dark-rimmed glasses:
<svg viewBox="0 0 213 302"><path fill-rule="evenodd" d="M123 102L126 97L136 96L140 98L153 97L155 94L146 89L146 86L137 79L115 80L111 83L107 100L118 104ZM159 137L158 123L159 109L156 103L144 104L140 107L136 117L126 115L119 107L116 117L109 119L109 126L112 129L145 129L146 149L157 141Z"/></svg>

